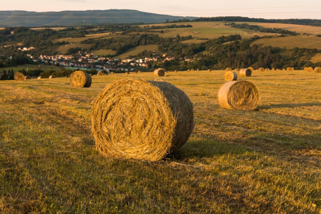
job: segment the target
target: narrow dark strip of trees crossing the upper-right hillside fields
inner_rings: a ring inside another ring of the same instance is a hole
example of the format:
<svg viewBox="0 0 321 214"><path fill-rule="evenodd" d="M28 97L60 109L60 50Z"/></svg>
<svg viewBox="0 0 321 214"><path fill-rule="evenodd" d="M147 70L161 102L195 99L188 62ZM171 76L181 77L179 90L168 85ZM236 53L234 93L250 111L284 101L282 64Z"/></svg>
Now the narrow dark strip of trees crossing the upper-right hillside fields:
<svg viewBox="0 0 321 214"><path fill-rule="evenodd" d="M284 30L281 28L264 28L264 27L260 27L258 25L249 25L247 23L235 24L234 22L231 22L231 23L225 24L225 25L230 25L232 28L255 30L255 31L264 32L264 33L279 33L279 34L287 34L287 35L292 35L292 36L296 36L298 34L295 31Z"/></svg>

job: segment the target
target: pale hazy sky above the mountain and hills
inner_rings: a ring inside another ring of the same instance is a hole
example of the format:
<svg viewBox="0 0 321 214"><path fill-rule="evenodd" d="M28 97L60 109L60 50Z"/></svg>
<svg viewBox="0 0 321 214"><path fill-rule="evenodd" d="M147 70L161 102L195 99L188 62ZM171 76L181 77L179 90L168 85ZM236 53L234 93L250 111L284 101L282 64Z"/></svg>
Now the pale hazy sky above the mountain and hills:
<svg viewBox="0 0 321 214"><path fill-rule="evenodd" d="M2 3L1 3L2 2ZM213 17L246 16L265 19L321 19L320 0L1 0L0 10L35 12L131 9L143 12Z"/></svg>

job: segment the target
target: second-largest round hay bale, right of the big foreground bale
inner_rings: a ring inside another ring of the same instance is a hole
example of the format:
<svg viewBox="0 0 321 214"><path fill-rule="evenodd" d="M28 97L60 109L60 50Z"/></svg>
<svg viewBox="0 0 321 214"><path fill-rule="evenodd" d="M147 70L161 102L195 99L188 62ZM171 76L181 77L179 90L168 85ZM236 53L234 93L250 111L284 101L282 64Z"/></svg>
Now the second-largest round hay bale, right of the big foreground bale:
<svg viewBox="0 0 321 214"><path fill-rule="evenodd" d="M219 104L234 110L253 110L259 101L259 92L246 80L226 82L218 91Z"/></svg>

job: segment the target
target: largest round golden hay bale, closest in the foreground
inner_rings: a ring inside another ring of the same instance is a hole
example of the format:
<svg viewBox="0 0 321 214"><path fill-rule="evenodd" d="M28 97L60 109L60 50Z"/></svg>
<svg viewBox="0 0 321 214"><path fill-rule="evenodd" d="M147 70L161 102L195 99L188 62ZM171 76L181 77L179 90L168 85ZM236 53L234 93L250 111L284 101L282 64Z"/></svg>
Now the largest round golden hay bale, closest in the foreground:
<svg viewBox="0 0 321 214"><path fill-rule="evenodd" d="M98 94L91 127L103 155L156 161L188 140L193 114L191 101L174 85L124 79Z"/></svg>

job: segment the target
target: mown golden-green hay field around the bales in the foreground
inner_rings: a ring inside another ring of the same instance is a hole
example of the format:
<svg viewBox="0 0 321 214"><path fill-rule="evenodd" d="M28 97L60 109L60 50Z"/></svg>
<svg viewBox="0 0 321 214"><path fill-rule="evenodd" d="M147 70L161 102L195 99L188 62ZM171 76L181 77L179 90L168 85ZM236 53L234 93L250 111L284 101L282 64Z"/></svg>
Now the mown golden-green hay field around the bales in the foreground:
<svg viewBox="0 0 321 214"><path fill-rule="evenodd" d="M91 102L112 81L152 73L1 81L2 213L320 213L321 73L254 71L255 111L222 109L224 71L158 79L194 105L187 143L157 162L104 158Z"/></svg>

